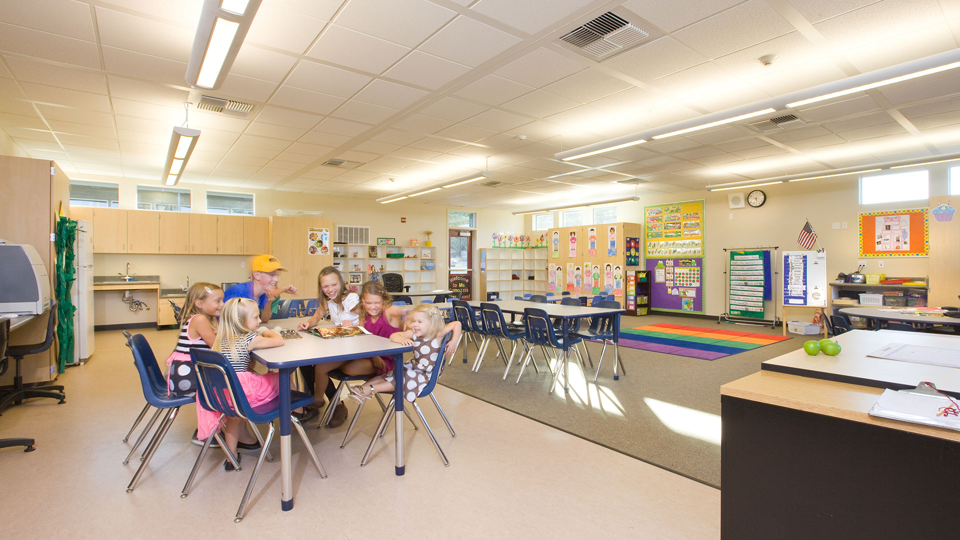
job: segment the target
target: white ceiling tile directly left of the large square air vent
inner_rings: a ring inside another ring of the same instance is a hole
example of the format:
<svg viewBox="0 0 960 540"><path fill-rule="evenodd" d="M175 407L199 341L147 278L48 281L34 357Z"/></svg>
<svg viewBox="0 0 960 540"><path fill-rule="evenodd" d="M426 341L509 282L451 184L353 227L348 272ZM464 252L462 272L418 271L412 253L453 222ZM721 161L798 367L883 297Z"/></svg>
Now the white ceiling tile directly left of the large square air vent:
<svg viewBox="0 0 960 540"><path fill-rule="evenodd" d="M449 61L476 67L519 42L519 37L461 15L418 48Z"/></svg>

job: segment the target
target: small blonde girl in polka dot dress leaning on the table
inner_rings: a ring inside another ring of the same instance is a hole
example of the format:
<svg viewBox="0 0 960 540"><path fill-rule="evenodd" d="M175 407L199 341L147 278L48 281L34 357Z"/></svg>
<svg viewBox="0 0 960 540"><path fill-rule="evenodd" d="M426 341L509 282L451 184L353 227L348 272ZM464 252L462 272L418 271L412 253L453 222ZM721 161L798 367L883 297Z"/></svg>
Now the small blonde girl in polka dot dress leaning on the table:
<svg viewBox="0 0 960 540"><path fill-rule="evenodd" d="M438 361L444 361L444 355L452 355L460 339L460 323L454 321L444 325L444 317L440 309L432 304L420 304L407 313L407 330L397 331L390 336L390 340L402 345L412 345L414 357L403 362L404 398L413 403L420 395L430 373ZM453 332L444 351L440 344L448 332ZM350 388L350 399L363 403L376 392L394 391L394 372L374 377L366 383Z"/></svg>

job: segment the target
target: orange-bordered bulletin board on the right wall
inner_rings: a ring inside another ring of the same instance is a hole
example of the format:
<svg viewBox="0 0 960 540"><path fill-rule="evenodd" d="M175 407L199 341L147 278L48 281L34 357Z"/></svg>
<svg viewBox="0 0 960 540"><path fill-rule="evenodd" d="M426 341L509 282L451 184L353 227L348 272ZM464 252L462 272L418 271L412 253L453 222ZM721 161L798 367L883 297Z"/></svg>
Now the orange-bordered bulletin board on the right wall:
<svg viewBox="0 0 960 540"><path fill-rule="evenodd" d="M857 216L860 257L929 257L926 209L862 212Z"/></svg>

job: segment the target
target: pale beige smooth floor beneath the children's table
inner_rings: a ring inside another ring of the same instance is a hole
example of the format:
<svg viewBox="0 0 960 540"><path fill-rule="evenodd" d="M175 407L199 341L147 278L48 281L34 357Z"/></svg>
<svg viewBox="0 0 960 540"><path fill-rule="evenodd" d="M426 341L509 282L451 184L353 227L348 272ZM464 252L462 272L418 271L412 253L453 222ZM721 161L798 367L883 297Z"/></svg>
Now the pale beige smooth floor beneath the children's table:
<svg viewBox="0 0 960 540"><path fill-rule="evenodd" d="M176 339L174 331L142 333L161 358ZM718 490L444 387L437 396L456 438L432 404L421 406L449 467L421 429L407 430L406 476L394 475L392 432L361 468L379 415L367 407L343 450L346 425L309 424L327 479L295 437L292 511L280 511L279 464L267 462L247 516L234 524L254 455L239 473L224 472L222 453L208 455L191 495L180 499L200 449L188 442L196 428L188 406L128 494L135 465L121 464L130 448L121 439L143 397L120 332L98 332L97 347L91 361L60 376L66 404L32 400L0 417L0 437L36 438L34 453L0 450L0 527L9 538L719 537Z"/></svg>

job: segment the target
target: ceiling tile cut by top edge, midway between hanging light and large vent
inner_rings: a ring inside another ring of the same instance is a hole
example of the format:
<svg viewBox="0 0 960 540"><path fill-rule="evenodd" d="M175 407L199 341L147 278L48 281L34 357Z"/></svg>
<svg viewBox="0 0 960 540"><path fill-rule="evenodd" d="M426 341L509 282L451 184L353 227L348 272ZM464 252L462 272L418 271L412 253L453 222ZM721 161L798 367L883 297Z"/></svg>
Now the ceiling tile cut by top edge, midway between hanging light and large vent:
<svg viewBox="0 0 960 540"><path fill-rule="evenodd" d="M337 24L415 47L455 14L426 0L351 0Z"/></svg>

